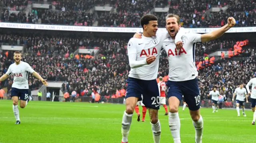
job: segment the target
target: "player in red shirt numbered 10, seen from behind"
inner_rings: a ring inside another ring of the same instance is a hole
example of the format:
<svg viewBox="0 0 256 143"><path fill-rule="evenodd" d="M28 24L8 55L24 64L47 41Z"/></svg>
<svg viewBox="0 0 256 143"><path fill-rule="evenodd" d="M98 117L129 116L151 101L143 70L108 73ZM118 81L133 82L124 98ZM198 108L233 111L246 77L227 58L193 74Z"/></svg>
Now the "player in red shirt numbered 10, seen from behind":
<svg viewBox="0 0 256 143"><path fill-rule="evenodd" d="M168 109L166 106L166 97L165 97L166 84L163 82L162 76L159 77L158 87L160 90L160 104L164 106L164 110L165 110L164 115L168 115Z"/></svg>

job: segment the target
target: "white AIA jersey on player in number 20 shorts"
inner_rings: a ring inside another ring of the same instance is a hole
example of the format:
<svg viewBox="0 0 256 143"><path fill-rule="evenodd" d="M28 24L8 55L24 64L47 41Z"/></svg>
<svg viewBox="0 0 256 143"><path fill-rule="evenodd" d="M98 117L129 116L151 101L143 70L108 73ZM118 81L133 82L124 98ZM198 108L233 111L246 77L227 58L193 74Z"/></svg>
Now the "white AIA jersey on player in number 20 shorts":
<svg viewBox="0 0 256 143"><path fill-rule="evenodd" d="M155 37L144 37L142 35L141 39L131 38L129 40L127 46L128 56L137 54L136 61L145 60L147 55L156 56L156 60L150 65L131 69L129 77L142 80L154 80L157 78L162 42L167 37L170 37L167 31L159 31Z"/></svg>

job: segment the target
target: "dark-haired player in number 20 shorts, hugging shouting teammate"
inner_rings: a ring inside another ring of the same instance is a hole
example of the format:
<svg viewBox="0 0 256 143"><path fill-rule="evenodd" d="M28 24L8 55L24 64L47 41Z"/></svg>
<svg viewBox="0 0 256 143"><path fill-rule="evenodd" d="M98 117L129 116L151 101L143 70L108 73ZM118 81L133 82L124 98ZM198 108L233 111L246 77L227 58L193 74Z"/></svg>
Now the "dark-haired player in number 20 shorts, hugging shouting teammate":
<svg viewBox="0 0 256 143"><path fill-rule="evenodd" d="M156 32L158 23L154 15L142 16L140 24L143 28L142 39L131 38L127 46L131 70L127 80L121 143L128 143L132 114L136 103L142 100L141 95L143 95L143 104L148 108L154 143L160 142L161 127L158 120L160 93L156 78L162 42L169 35L167 31Z"/></svg>

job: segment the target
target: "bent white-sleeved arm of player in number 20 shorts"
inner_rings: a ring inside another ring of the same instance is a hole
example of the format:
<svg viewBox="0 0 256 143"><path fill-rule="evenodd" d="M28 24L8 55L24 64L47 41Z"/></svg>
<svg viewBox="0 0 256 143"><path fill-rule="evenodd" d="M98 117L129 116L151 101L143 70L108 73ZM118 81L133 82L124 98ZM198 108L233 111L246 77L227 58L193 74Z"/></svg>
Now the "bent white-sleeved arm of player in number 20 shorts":
<svg viewBox="0 0 256 143"><path fill-rule="evenodd" d="M138 42L136 38L131 38L127 45L129 65L132 69L147 65L146 58L144 60L137 61L137 44Z"/></svg>

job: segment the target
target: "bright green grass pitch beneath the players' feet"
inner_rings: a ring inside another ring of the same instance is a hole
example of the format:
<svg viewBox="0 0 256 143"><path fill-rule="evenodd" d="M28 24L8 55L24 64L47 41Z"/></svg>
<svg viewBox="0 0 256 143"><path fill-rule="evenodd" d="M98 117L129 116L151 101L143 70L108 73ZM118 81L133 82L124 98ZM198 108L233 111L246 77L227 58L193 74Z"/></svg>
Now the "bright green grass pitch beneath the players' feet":
<svg viewBox="0 0 256 143"><path fill-rule="evenodd" d="M125 106L121 104L90 104L84 102L30 101L20 110L21 124L15 125L11 100L0 100L0 143L120 143L121 121ZM194 127L188 108L182 112L182 143L194 143ZM142 108L140 107L142 114ZM237 117L236 110L202 108L203 143L255 143L256 126L251 125L253 113ZM134 112L129 143L153 143L148 112L146 122L136 121ZM173 143L168 116L160 107L161 143Z"/></svg>

